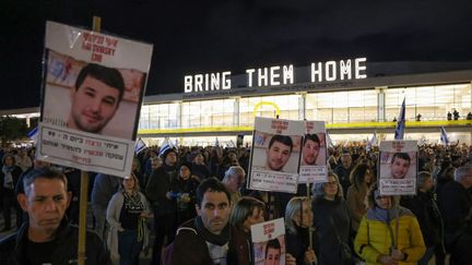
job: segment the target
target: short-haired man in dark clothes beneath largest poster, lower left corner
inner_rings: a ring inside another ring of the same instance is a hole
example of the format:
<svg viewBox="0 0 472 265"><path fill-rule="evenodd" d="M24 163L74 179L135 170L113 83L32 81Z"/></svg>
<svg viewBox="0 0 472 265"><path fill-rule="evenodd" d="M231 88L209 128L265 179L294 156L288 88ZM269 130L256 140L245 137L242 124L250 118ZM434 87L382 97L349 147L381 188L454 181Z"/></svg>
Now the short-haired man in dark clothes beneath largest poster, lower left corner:
<svg viewBox="0 0 472 265"><path fill-rule="evenodd" d="M79 229L64 213L71 201L63 173L34 169L23 179L25 193L17 200L28 221L0 245L0 264L72 264L78 260ZM2 260L4 258L5 260ZM86 264L111 264L102 240L86 234Z"/></svg>

